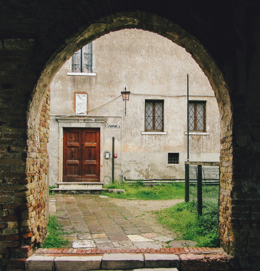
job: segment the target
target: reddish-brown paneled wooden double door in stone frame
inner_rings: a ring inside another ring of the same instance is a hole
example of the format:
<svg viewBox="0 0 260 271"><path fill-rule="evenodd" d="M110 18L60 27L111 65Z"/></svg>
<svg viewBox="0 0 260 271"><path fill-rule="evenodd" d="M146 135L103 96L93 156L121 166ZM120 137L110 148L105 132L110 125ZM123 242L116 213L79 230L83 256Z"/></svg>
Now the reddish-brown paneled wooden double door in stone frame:
<svg viewBox="0 0 260 271"><path fill-rule="evenodd" d="M100 129L63 130L63 182L100 182Z"/></svg>

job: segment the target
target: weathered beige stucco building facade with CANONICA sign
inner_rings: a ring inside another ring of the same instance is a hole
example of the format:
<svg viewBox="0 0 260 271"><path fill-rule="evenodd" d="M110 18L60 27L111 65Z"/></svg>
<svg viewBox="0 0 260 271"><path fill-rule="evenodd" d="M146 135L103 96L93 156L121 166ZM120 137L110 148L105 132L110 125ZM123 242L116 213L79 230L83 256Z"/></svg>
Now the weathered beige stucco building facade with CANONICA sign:
<svg viewBox="0 0 260 271"><path fill-rule="evenodd" d="M217 101L184 48L137 29L112 32L90 46L90 53L83 47L74 54L50 85L50 185L110 183L113 137L115 180L184 179L187 74L190 161L219 161ZM121 95L125 87L130 91L126 103ZM93 131L98 131L98 138L90 140L97 141L95 146L85 142Z"/></svg>

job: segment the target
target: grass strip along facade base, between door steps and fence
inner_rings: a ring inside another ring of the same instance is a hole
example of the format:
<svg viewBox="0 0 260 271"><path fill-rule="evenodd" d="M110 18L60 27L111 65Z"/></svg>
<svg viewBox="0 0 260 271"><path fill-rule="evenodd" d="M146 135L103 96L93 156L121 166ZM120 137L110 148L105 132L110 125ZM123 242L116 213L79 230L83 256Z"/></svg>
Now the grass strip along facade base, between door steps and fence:
<svg viewBox="0 0 260 271"><path fill-rule="evenodd" d="M103 195L105 196L120 199L136 198L146 200L184 199L185 191L184 183L145 186L141 180L136 181L135 183L122 184L114 182L106 185L105 188L125 190L125 193L103 192Z"/></svg>

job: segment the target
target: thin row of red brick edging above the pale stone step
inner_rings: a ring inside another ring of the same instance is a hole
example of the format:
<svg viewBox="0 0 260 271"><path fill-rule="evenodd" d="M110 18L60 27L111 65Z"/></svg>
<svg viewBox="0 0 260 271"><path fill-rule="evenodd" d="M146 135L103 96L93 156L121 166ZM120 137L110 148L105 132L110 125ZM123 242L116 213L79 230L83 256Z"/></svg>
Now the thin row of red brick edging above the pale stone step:
<svg viewBox="0 0 260 271"><path fill-rule="evenodd" d="M160 253L160 254L210 254L222 253L223 249L219 247L170 247L170 248L142 248L142 249L37 249L35 254L44 254L45 256L73 256L73 255L100 255L106 253Z"/></svg>

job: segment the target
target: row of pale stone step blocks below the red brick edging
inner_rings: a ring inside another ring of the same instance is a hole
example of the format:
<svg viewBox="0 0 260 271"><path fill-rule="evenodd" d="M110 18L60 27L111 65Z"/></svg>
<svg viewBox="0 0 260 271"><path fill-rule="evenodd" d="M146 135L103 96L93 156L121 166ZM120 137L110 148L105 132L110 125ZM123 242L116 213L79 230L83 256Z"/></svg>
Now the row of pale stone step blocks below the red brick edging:
<svg viewBox="0 0 260 271"><path fill-rule="evenodd" d="M180 260L174 254L104 254L103 256L39 256L25 262L26 271L134 270L178 271ZM158 268L155 270L154 268ZM205 269L206 270L206 269Z"/></svg>

